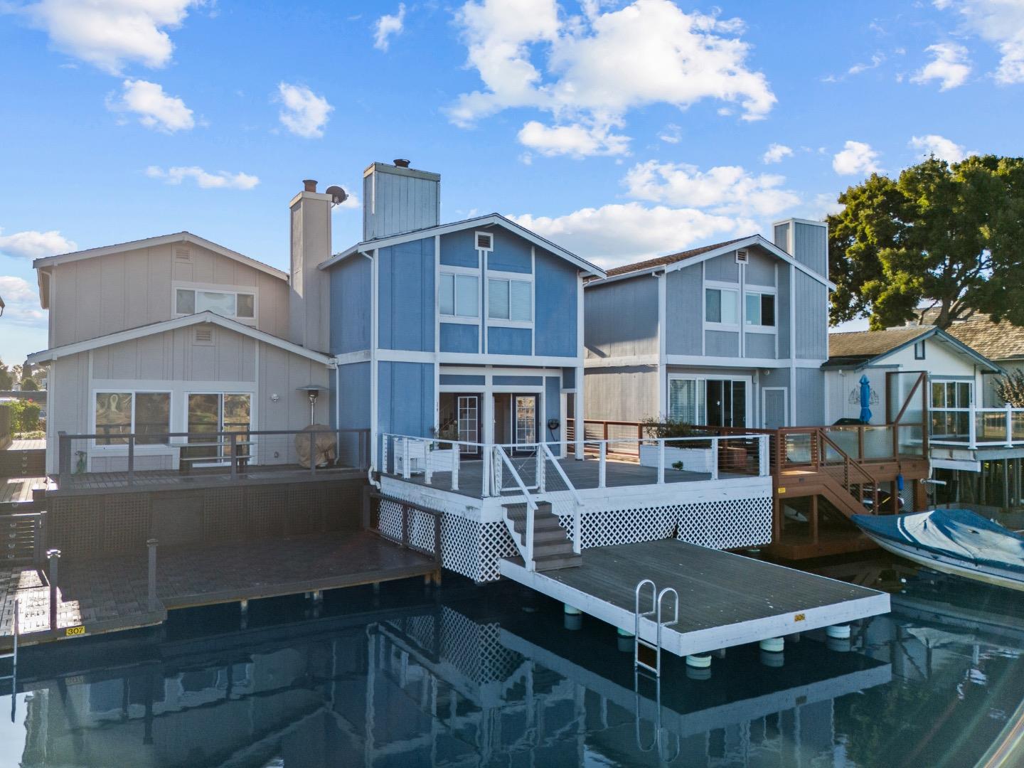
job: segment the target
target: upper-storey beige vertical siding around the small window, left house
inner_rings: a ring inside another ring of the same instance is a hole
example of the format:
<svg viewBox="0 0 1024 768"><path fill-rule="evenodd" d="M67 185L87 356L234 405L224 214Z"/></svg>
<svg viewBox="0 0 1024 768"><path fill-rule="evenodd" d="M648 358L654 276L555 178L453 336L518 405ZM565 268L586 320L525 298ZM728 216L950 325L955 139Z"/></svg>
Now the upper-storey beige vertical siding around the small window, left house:
<svg viewBox="0 0 1024 768"><path fill-rule="evenodd" d="M188 260L175 259L175 250ZM198 245L169 243L51 268L51 346L171 319L173 283L256 289L257 328L288 336L288 283Z"/></svg>

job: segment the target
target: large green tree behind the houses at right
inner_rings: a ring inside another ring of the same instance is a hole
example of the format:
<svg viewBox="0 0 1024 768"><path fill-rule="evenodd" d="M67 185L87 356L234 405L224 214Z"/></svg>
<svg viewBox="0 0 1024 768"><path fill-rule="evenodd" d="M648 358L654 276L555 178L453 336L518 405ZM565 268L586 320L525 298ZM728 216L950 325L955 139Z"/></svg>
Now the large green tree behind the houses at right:
<svg viewBox="0 0 1024 768"><path fill-rule="evenodd" d="M920 307L947 328L981 312L1024 325L1024 158L929 158L871 174L828 217L833 325L900 325Z"/></svg>

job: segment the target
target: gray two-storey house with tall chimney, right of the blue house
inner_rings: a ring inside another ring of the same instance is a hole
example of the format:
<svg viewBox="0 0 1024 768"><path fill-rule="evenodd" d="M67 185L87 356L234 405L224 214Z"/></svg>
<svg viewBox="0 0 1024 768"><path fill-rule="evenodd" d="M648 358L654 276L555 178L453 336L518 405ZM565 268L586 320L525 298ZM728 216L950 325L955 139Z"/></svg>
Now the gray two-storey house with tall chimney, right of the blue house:
<svg viewBox="0 0 1024 768"><path fill-rule="evenodd" d="M774 242L754 234L590 281L587 419L822 424L827 274L825 224L788 219Z"/></svg>

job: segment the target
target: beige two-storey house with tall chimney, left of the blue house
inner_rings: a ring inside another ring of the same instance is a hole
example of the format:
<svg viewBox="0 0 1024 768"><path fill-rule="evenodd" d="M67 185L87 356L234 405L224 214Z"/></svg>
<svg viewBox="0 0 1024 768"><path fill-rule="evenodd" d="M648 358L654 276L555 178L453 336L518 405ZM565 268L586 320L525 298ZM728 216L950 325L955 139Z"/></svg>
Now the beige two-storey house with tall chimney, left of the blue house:
<svg viewBox="0 0 1024 768"><path fill-rule="evenodd" d="M127 467L131 433L151 435L136 438L136 468L177 469L169 432L301 430L309 385L322 394L314 419L329 424L326 286L302 278L329 252L330 205L310 191L292 200L291 281L187 231L37 259L49 346L29 361L48 367L47 471L58 432L101 435L76 440L75 461L105 472ZM294 459L264 443L252 461Z"/></svg>

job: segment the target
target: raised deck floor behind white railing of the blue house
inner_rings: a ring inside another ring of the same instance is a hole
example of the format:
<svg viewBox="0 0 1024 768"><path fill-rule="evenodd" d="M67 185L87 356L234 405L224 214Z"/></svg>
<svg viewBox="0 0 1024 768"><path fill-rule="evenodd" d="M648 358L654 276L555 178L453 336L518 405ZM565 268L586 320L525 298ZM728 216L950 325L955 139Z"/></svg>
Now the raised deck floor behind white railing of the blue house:
<svg viewBox="0 0 1024 768"><path fill-rule="evenodd" d="M536 474L537 474L537 462L532 458L520 459L513 458L513 464L516 466L516 471L522 478L522 481L527 485L536 485ZM596 459L559 459L558 465L565 472L565 476L568 478L572 486L579 490L585 488L596 488L598 487L598 475L599 475L599 462ZM414 474L409 477L409 479L402 478L400 475L392 475L397 479L404 480L406 482L413 482L417 485L426 485L426 478L423 473ZM729 477L748 477L750 475L745 474L734 474L730 472L720 472L719 478L727 479ZM508 469L505 469L505 486L510 488L514 481L509 475ZM564 489L564 482L558 473L552 469L550 466L546 470L546 482L548 490L562 490ZM686 470L678 469L666 469L665 471L665 481L667 483L676 482L698 482L700 480L710 480L711 474L708 472L688 472ZM642 467L635 462L629 461L617 461L608 459L605 464L605 487L628 487L632 485L654 485L657 482L657 469L654 467ZM474 499L480 498L480 488L483 483L483 462L481 461L463 461L459 465L459 489L453 493L460 494L462 496L468 496ZM452 487L452 473L451 472L434 472L431 476L430 485L435 488L440 488L442 490L449 490ZM518 496L519 492L517 489L509 489L505 492L507 496Z"/></svg>

